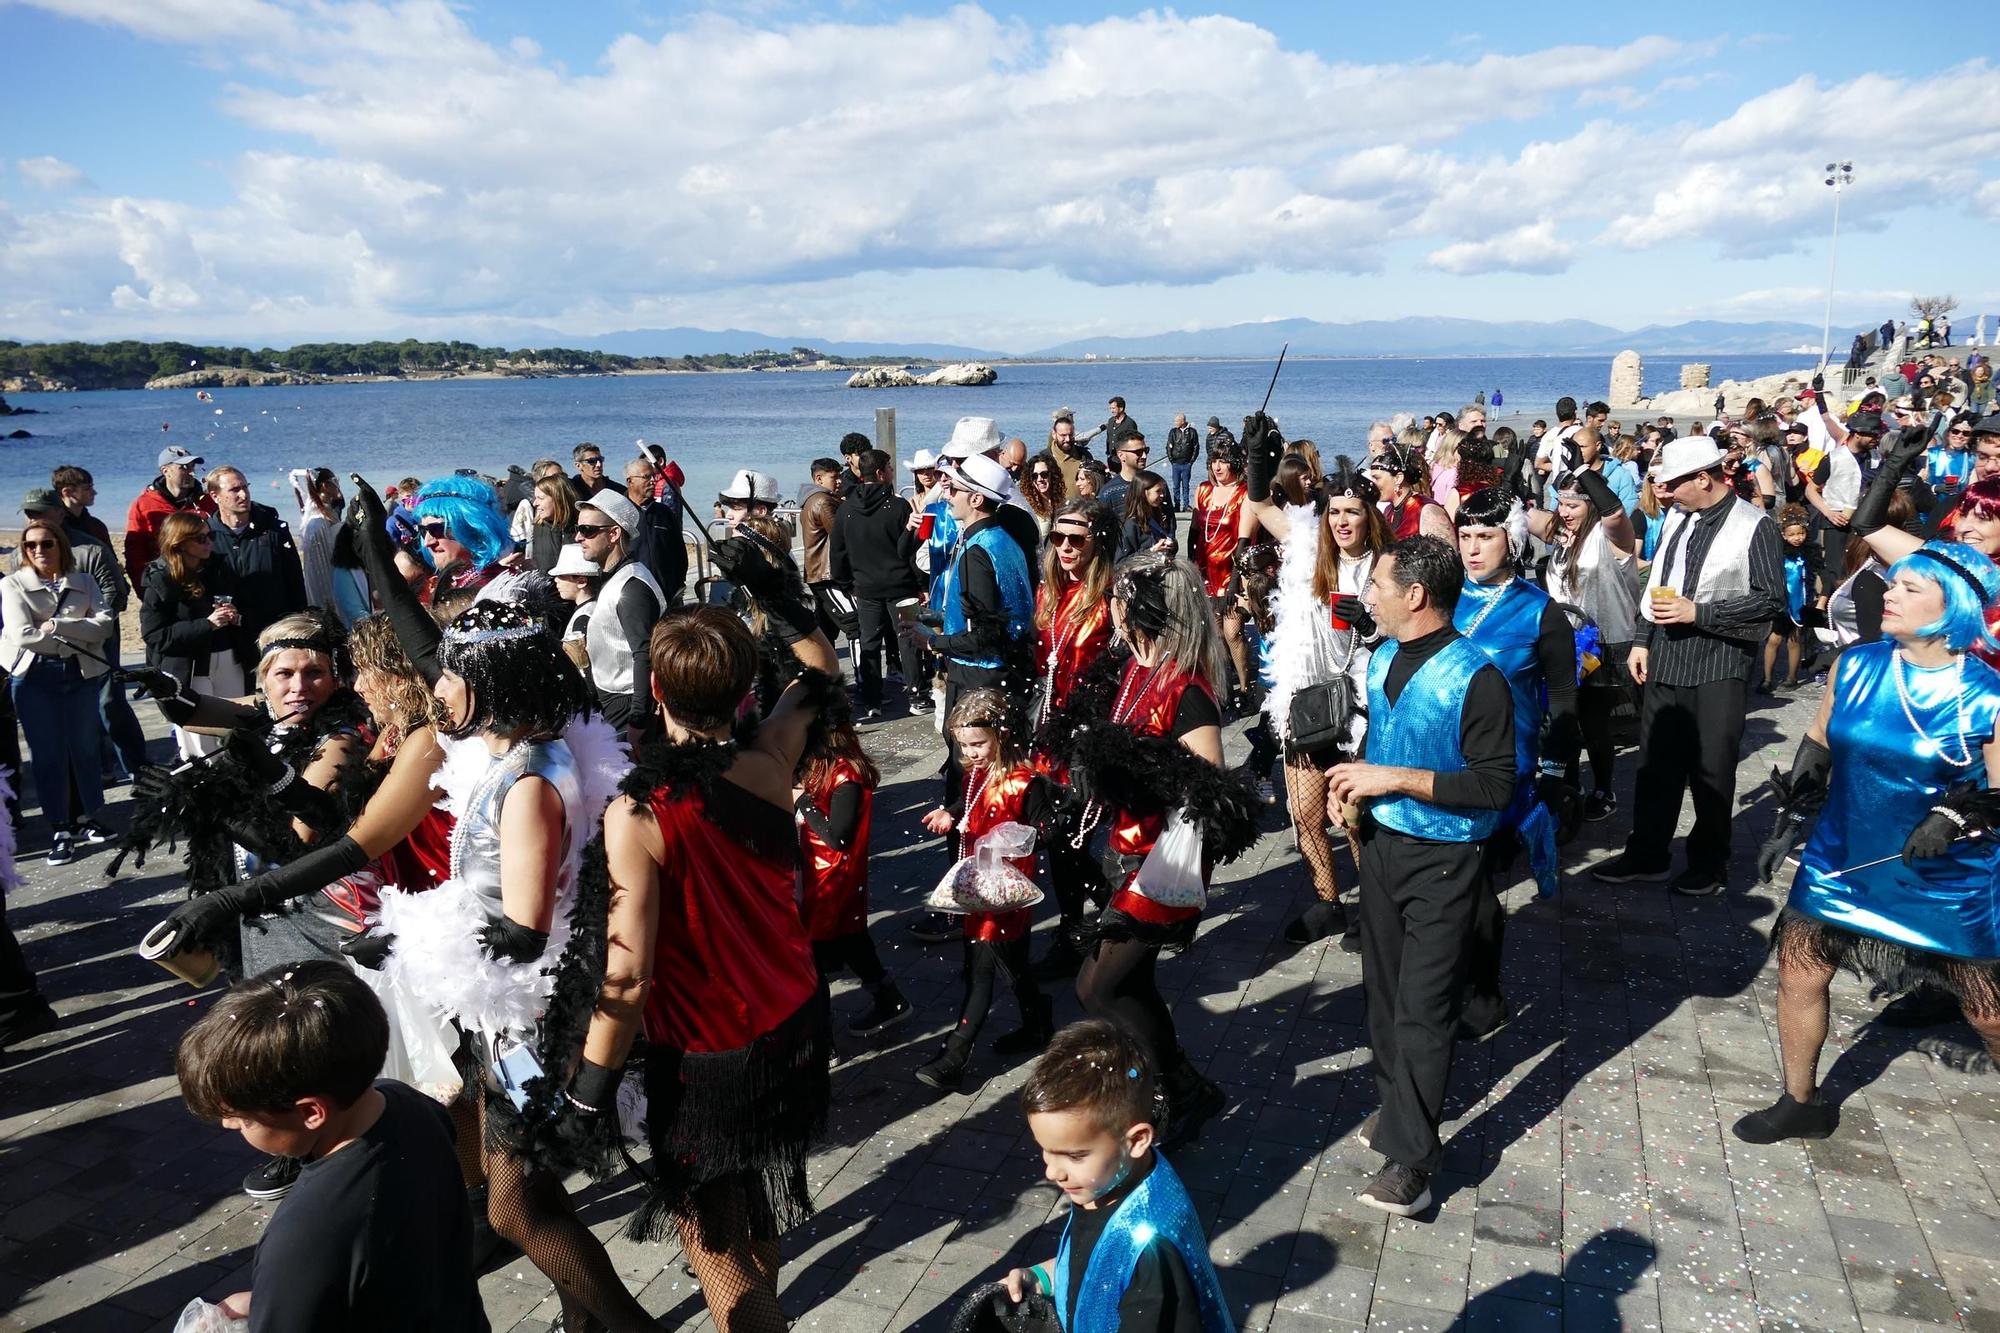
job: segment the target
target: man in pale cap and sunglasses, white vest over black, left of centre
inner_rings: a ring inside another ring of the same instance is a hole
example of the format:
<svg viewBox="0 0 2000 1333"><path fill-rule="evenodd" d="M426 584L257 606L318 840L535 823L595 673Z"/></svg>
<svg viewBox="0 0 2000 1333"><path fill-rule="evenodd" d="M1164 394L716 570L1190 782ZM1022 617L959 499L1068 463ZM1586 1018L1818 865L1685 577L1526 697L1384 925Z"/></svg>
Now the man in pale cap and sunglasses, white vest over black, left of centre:
<svg viewBox="0 0 2000 1333"><path fill-rule="evenodd" d="M652 626L666 610L652 570L632 556L638 530L638 506L618 490L598 490L576 506L576 550L604 572L584 630L590 683L604 721L634 739L652 717Z"/></svg>

